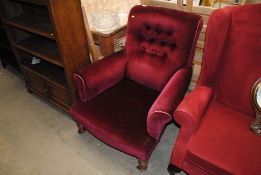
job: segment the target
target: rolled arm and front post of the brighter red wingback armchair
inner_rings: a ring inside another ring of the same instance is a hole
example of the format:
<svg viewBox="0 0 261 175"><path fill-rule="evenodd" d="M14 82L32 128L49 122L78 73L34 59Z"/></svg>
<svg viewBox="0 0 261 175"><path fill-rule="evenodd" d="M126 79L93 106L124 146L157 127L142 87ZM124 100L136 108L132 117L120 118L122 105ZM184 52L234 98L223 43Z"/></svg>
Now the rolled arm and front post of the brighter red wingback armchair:
<svg viewBox="0 0 261 175"><path fill-rule="evenodd" d="M199 126L212 99L212 94L212 88L197 86L184 98L174 112L174 120L180 125L180 131L171 158L176 166L181 167L186 154L187 143Z"/></svg>

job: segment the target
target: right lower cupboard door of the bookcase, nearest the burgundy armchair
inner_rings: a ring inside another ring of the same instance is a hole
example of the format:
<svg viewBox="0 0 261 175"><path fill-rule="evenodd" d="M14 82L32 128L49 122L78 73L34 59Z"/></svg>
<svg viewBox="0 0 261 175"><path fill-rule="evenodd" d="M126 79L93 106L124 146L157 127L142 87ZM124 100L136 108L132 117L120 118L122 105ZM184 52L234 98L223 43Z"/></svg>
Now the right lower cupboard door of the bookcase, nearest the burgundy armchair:
<svg viewBox="0 0 261 175"><path fill-rule="evenodd" d="M60 87L52 82L48 82L49 95L52 101L69 107L71 105L70 93L64 87Z"/></svg>

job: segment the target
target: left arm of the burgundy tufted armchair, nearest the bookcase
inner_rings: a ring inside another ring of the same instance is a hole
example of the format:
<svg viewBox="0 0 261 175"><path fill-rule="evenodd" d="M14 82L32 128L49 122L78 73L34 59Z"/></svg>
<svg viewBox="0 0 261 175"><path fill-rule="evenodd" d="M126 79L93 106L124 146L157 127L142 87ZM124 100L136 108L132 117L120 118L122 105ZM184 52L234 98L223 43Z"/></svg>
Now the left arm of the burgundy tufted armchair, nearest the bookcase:
<svg viewBox="0 0 261 175"><path fill-rule="evenodd" d="M120 51L89 64L73 75L82 102L112 87L125 75L126 55Z"/></svg>

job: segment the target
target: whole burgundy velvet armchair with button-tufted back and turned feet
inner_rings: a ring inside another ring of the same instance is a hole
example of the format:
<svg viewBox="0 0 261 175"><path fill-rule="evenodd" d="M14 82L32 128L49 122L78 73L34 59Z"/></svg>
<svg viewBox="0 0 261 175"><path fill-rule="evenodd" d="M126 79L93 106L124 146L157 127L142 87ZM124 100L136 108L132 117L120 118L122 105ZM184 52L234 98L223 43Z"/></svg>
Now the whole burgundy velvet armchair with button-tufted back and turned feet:
<svg viewBox="0 0 261 175"><path fill-rule="evenodd" d="M126 49L74 74L80 101L71 115L79 133L139 160L148 159L190 82L202 28L198 15L136 6L128 19Z"/></svg>

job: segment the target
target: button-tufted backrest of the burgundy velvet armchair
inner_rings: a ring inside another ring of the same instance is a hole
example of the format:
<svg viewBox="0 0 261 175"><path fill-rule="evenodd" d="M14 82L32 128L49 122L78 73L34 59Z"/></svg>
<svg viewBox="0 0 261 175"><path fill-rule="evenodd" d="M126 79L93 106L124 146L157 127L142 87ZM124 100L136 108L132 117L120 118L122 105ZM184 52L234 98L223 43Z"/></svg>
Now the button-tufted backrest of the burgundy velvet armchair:
<svg viewBox="0 0 261 175"><path fill-rule="evenodd" d="M171 9L134 7L126 34L127 76L162 90L178 69L191 66L199 18Z"/></svg>

